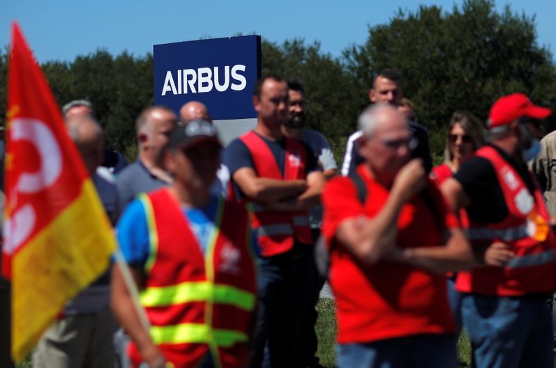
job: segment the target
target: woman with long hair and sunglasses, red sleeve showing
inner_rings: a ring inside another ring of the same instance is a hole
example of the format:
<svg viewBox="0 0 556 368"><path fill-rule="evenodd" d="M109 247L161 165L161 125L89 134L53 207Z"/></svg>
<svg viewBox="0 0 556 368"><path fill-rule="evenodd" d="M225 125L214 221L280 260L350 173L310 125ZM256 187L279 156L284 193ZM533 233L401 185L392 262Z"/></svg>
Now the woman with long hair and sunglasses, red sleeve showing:
<svg viewBox="0 0 556 368"><path fill-rule="evenodd" d="M471 159L484 143L484 128L475 115L456 111L450 119L444 150L444 163L432 168L432 177L441 184L459 170L461 163Z"/></svg>

